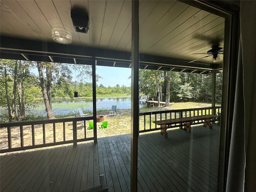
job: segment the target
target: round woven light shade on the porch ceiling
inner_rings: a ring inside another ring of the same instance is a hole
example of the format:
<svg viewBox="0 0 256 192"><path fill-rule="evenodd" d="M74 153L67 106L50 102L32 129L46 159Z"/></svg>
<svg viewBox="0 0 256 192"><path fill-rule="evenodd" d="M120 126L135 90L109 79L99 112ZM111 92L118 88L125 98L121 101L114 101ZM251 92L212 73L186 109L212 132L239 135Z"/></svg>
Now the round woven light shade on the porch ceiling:
<svg viewBox="0 0 256 192"><path fill-rule="evenodd" d="M72 43L72 34L64 28L55 27L52 28L52 39L61 44L70 44Z"/></svg>

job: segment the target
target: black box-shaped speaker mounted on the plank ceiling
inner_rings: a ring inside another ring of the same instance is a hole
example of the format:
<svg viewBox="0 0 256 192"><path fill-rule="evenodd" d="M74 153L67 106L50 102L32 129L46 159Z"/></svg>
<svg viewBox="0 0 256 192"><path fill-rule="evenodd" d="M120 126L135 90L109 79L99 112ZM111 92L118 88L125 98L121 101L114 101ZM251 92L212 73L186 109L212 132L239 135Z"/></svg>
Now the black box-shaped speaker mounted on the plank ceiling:
<svg viewBox="0 0 256 192"><path fill-rule="evenodd" d="M71 18L76 32L87 33L89 29L89 16L86 11L71 10Z"/></svg>

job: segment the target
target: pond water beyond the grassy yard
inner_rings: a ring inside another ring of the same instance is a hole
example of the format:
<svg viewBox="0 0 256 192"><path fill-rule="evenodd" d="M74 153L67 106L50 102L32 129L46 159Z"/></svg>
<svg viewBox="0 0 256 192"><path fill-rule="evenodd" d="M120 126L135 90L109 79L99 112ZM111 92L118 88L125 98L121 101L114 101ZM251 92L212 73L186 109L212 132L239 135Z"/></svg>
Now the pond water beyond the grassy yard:
<svg viewBox="0 0 256 192"><path fill-rule="evenodd" d="M26 110L26 114L46 116L43 101L34 105L35 108L30 107ZM116 105L117 110L130 109L131 98L97 98L96 100L96 110L110 110L112 105ZM143 104L141 103L140 107L142 106ZM52 100L52 112L55 116L72 114L72 111L78 114L78 108L82 108L84 112L92 112L92 99ZM0 113L4 115L8 111L5 108L0 108Z"/></svg>

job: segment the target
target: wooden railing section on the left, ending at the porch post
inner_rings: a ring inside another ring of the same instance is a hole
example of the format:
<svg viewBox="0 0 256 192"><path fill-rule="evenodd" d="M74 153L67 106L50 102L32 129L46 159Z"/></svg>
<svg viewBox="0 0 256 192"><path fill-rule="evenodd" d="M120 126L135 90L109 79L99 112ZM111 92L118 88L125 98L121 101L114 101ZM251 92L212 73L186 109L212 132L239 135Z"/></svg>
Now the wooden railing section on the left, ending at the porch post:
<svg viewBox="0 0 256 192"><path fill-rule="evenodd" d="M92 116L0 124L0 152L11 152L93 140L93 130L86 128Z"/></svg>

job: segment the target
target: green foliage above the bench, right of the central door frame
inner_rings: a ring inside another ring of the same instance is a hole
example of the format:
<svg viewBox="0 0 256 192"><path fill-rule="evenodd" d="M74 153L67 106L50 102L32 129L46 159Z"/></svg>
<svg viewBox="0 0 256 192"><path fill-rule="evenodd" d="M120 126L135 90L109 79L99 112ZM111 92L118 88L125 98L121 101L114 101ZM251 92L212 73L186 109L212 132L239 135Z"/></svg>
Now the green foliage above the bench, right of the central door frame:
<svg viewBox="0 0 256 192"><path fill-rule="evenodd" d="M156 81L154 70L140 69L140 95L155 97ZM163 71L158 71L158 78L162 81ZM162 84L163 93L166 94L166 84ZM221 102L222 73L216 74L216 102ZM163 96L165 100L165 95ZM212 100L212 75L170 72L170 102Z"/></svg>

